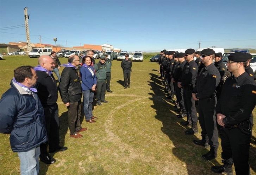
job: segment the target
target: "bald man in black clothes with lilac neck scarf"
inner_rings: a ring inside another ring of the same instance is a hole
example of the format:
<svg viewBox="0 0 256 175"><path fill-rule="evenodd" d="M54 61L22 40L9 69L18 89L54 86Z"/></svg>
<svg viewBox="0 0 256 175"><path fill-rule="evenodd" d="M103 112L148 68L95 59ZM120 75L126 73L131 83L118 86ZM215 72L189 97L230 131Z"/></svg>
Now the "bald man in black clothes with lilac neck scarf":
<svg viewBox="0 0 256 175"><path fill-rule="evenodd" d="M40 145L40 161L51 164L56 160L47 152L48 144L50 153L64 151L68 148L60 146L58 105L56 103L58 99L58 88L52 74L52 70L55 66L54 60L49 56L41 56L38 59L38 64L39 65L34 69L38 77L36 87L38 97L44 108L44 118L48 136L48 142Z"/></svg>

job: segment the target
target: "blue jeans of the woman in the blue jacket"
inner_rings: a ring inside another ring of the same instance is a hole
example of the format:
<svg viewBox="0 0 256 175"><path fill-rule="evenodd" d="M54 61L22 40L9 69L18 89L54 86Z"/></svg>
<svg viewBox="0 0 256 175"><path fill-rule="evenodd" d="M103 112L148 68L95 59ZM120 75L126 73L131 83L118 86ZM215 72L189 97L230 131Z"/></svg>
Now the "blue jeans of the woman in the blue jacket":
<svg viewBox="0 0 256 175"><path fill-rule="evenodd" d="M92 103L94 92L90 90L85 90L83 92L83 112L85 112L85 119L90 120L93 116Z"/></svg>

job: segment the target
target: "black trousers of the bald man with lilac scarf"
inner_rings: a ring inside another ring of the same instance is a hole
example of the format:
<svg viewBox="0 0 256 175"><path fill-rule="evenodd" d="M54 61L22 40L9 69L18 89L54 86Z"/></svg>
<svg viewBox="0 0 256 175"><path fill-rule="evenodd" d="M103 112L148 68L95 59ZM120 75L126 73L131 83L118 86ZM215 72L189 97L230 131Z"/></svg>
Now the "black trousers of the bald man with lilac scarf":
<svg viewBox="0 0 256 175"><path fill-rule="evenodd" d="M59 135L59 110L58 105L55 103L51 106L44 106L44 118L46 124L46 132L48 136L48 141L40 144L40 157L44 158L48 156L47 147L49 144L49 150L55 150L60 145L60 135Z"/></svg>

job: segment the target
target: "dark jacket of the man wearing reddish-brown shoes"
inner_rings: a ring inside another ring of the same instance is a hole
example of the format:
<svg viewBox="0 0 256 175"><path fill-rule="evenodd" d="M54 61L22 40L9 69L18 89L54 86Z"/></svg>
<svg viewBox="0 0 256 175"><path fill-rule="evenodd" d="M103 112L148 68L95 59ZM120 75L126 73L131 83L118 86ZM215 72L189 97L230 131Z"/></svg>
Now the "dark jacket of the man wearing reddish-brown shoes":
<svg viewBox="0 0 256 175"><path fill-rule="evenodd" d="M74 67L65 67L61 73L59 90L64 104L78 102L82 98L79 74Z"/></svg>

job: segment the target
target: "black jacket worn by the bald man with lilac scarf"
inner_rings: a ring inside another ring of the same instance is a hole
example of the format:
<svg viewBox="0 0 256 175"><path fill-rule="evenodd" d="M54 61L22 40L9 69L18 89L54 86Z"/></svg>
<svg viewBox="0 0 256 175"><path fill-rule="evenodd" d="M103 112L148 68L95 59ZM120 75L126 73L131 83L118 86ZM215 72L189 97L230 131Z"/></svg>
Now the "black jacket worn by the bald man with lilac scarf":
<svg viewBox="0 0 256 175"><path fill-rule="evenodd" d="M58 99L58 88L54 76L48 75L44 71L36 71L37 73L37 94L42 105L54 105Z"/></svg>

